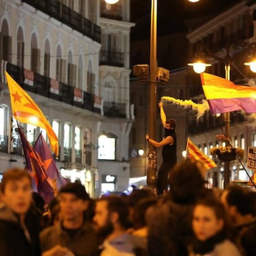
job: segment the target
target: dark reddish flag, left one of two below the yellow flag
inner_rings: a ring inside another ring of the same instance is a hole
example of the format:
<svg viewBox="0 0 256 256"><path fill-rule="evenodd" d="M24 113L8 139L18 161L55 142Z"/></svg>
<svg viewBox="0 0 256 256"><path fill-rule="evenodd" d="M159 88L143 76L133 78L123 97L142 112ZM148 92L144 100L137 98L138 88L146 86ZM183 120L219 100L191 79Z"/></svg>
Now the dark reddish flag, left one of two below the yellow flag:
<svg viewBox="0 0 256 256"><path fill-rule="evenodd" d="M34 189L45 199L46 203L49 203L54 198L53 183L45 171L45 167L40 156L32 148L32 145L28 142L25 134L22 132L22 129L20 129L20 127L18 129L27 163L27 169L34 181Z"/></svg>

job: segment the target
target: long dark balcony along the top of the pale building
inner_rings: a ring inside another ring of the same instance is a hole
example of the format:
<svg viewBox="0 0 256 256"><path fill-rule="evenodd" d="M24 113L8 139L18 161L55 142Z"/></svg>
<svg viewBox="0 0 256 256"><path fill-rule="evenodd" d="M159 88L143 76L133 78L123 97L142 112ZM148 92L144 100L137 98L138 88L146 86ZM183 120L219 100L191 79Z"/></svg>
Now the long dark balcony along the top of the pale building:
<svg viewBox="0 0 256 256"><path fill-rule="evenodd" d="M101 28L58 0L22 0L92 40L101 43Z"/></svg>

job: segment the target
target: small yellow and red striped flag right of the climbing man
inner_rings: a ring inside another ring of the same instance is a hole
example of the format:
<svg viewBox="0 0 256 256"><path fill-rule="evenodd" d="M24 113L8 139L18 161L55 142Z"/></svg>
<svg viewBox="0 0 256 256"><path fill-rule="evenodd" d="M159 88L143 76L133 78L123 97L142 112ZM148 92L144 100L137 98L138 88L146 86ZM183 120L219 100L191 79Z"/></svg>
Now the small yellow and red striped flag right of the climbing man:
<svg viewBox="0 0 256 256"><path fill-rule="evenodd" d="M215 161L203 153L189 138L187 138L187 157L190 160L200 160L205 164L205 168L217 167Z"/></svg>

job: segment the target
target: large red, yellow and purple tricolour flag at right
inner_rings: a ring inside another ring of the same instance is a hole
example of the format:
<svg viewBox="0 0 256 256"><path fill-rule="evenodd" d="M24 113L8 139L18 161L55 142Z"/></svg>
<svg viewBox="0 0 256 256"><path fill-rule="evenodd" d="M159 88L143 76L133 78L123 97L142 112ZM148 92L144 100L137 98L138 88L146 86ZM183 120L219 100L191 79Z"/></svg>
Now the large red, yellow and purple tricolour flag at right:
<svg viewBox="0 0 256 256"><path fill-rule="evenodd" d="M227 79L207 73L201 73L201 82L211 113L241 109L246 113L256 113L256 87L235 85Z"/></svg>

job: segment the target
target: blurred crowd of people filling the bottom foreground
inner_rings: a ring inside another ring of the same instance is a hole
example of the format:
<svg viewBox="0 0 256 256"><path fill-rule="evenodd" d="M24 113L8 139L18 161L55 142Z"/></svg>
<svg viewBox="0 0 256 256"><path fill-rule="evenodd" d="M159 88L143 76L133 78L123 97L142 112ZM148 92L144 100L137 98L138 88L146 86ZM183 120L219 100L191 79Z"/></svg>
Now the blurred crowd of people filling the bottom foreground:
<svg viewBox="0 0 256 256"><path fill-rule="evenodd" d="M177 163L164 195L144 187L93 199L69 183L46 208L30 174L9 169L0 184L0 255L255 255L255 192L208 189L204 174L198 162Z"/></svg>

